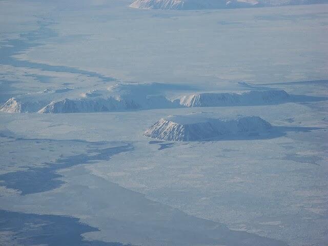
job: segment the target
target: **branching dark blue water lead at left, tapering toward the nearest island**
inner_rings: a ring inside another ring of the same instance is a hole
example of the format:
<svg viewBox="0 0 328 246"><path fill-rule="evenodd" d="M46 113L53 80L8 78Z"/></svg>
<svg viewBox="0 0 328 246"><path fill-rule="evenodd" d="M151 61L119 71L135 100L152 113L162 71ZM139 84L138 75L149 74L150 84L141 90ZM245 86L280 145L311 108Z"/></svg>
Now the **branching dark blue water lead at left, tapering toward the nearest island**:
<svg viewBox="0 0 328 246"><path fill-rule="evenodd" d="M2 134L2 136L5 136ZM8 137L8 136L6 136ZM6 186L10 189L21 191L22 195L38 193L53 190L58 188L64 183L64 181L58 178L61 175L56 171L59 169L69 168L75 165L90 163L94 160L109 160L111 156L130 151L133 149L132 144L123 143L122 146L106 148L107 142L87 142L81 140L53 140L53 139L26 139L22 137L11 137L15 141L33 141L44 142L45 146L48 146L49 142L54 144L65 144L74 146L76 142L83 142L88 151L86 154L78 154L72 156L65 156L57 159L54 162L45 162L42 167L29 168L27 171L10 172L0 175L2 186Z"/></svg>

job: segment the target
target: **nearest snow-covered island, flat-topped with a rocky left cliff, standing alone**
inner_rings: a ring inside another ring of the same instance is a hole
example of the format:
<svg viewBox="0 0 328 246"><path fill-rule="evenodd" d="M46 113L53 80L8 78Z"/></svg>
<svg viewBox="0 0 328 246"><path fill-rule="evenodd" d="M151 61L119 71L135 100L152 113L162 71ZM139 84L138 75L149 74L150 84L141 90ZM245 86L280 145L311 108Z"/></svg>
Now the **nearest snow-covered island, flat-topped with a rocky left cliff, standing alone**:
<svg viewBox="0 0 328 246"><path fill-rule="evenodd" d="M271 128L268 121L258 116L220 119L202 112L161 118L144 135L168 141L195 141L259 134Z"/></svg>

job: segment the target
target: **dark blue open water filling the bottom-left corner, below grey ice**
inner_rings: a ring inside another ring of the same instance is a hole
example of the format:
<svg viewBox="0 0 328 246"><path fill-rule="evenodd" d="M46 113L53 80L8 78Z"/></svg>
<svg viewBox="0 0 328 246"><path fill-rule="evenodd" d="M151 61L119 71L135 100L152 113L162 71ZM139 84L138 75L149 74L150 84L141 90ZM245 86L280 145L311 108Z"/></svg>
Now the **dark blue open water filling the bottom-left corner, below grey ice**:
<svg viewBox="0 0 328 246"><path fill-rule="evenodd" d="M79 219L0 210L0 231L12 233L12 244L48 246L122 246L119 242L86 241L81 234L98 231ZM5 245L4 245L5 246Z"/></svg>

